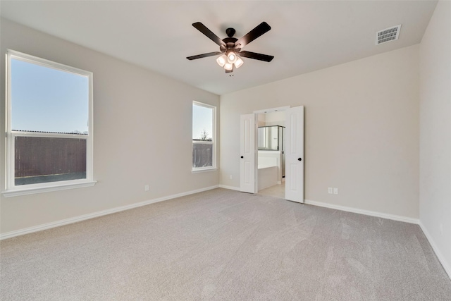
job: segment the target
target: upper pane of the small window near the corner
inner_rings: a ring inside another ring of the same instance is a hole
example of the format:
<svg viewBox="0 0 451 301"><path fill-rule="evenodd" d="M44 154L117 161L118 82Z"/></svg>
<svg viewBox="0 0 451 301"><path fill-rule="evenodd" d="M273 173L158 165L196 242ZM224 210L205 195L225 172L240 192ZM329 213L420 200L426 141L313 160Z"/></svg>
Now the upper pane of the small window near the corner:
<svg viewBox="0 0 451 301"><path fill-rule="evenodd" d="M192 140L213 140L213 109L192 105Z"/></svg>

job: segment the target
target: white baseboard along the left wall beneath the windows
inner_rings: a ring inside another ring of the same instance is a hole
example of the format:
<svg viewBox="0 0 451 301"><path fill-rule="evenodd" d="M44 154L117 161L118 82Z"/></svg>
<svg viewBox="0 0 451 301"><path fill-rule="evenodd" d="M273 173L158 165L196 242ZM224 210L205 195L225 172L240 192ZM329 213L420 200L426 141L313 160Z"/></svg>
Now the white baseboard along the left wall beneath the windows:
<svg viewBox="0 0 451 301"><path fill-rule="evenodd" d="M182 193L178 193L176 195L168 195L167 197L159 197L157 199L151 199L149 201L139 202L139 203L125 205L125 206L121 206L121 207L115 207L115 208L111 208L111 209L97 211L97 212L94 212L94 213L91 213L91 214L84 214L84 215L80 215L80 216L71 217L69 219L62 219L60 221L52 221L51 223L44 223L42 225L32 226L30 228L23 228L23 229L16 230L16 231L1 233L0 234L0 240L4 240L6 238L13 238L13 237L19 236L19 235L25 235L25 234L28 234L28 233L34 233L34 232L37 232L37 231L43 231L43 230L47 230L47 229L50 229L50 228L56 228L56 227L59 227L59 226L68 225L69 223L77 223L79 221L85 221L87 219L94 219L94 218L99 217L99 216L104 216L104 215L107 215L107 214L113 214L113 213L116 213L116 212L125 211L125 210L128 210L128 209L133 209L133 208L136 208L136 207L142 207L142 206L145 206L145 205L148 205L148 204L153 204L153 203L156 203L156 202L166 201L168 199L175 199L176 197L184 197L185 195L192 195L194 193L203 192L203 191L206 191L206 190L212 190L212 189L215 189L215 188L219 188L219 185L214 185L214 186L201 188L201 189L197 189L197 190L191 190L191 191L187 191L187 192L182 192Z"/></svg>

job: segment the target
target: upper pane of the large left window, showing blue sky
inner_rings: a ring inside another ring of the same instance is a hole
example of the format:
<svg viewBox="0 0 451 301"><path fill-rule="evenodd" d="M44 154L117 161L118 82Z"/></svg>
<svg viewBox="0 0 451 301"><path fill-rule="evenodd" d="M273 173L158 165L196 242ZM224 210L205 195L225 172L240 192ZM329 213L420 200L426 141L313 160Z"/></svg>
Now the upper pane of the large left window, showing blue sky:
<svg viewBox="0 0 451 301"><path fill-rule="evenodd" d="M88 133L87 76L11 58L11 130Z"/></svg>

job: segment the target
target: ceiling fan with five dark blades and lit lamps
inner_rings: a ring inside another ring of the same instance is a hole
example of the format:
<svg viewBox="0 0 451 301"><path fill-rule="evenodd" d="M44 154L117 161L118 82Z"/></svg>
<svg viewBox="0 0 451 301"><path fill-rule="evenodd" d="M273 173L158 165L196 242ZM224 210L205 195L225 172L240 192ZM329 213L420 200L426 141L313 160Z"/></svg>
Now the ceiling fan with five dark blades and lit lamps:
<svg viewBox="0 0 451 301"><path fill-rule="evenodd" d="M244 63L241 59L241 56L248 59L256 59L259 61L267 62L270 62L272 61L272 59L274 59L274 56L268 56L267 54L257 54L251 51L242 51L242 48L247 44L271 30L271 26L269 26L266 22L260 23L259 25L257 25L257 27L247 32L247 34L240 39L233 37L233 35L235 35L235 29L233 28L227 28L227 37L220 39L200 22L193 23L192 26L197 28L199 32L202 32L204 35L206 35L206 37L211 39L211 41L218 44L219 51L209 52L206 54L197 54L196 56L188 56L187 59L189 60L202 59L206 58L207 56L217 56L221 54L221 56L216 59L216 62L219 66L223 67L226 70L226 73L231 73L233 72L234 66L235 68L240 68L240 66L242 66L242 64Z"/></svg>

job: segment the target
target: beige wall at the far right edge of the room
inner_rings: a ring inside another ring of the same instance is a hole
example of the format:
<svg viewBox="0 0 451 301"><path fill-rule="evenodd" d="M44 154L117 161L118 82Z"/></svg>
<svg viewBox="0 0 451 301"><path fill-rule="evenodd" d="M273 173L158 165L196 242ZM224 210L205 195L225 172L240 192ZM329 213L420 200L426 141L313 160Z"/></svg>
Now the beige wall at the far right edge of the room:
<svg viewBox="0 0 451 301"><path fill-rule="evenodd" d="M420 47L420 222L451 276L450 28L451 2L440 1Z"/></svg>

